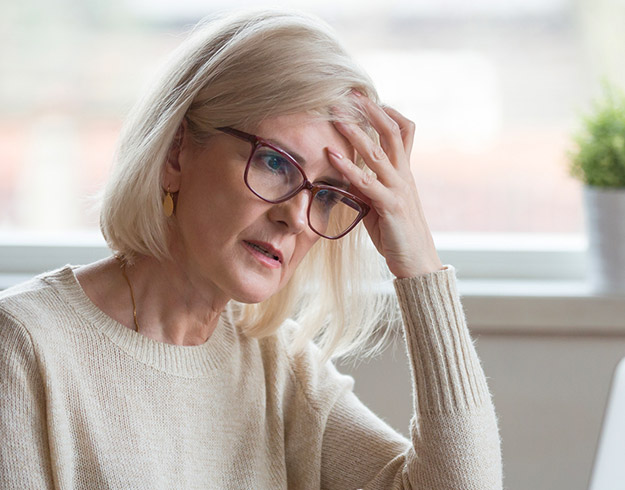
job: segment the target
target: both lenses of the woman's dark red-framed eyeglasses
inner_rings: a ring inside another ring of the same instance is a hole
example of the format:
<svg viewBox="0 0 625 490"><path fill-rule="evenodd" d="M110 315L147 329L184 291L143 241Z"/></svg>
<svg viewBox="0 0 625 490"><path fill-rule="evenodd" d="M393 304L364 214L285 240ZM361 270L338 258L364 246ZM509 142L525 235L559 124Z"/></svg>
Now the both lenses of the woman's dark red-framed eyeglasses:
<svg viewBox="0 0 625 490"><path fill-rule="evenodd" d="M304 175L286 156L260 145L247 170L247 183L267 201L280 201L304 182ZM335 238L348 230L361 214L360 205L331 187L315 187L308 220L320 235Z"/></svg>

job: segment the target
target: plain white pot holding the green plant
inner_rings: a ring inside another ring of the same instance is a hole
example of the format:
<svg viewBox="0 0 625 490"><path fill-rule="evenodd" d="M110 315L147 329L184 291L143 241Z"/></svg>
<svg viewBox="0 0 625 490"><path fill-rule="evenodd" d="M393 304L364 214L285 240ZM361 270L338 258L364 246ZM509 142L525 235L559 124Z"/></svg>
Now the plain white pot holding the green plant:
<svg viewBox="0 0 625 490"><path fill-rule="evenodd" d="M625 188L584 187L589 279L600 294L625 294Z"/></svg>

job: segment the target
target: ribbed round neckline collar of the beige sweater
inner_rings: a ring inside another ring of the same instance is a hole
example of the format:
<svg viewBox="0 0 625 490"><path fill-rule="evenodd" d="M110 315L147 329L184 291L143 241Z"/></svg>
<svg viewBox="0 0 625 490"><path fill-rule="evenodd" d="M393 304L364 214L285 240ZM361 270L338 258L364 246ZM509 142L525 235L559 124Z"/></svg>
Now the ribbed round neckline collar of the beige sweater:
<svg viewBox="0 0 625 490"><path fill-rule="evenodd" d="M211 337L201 345L181 346L159 342L130 330L100 310L85 294L73 269L67 265L46 274L43 279L89 325L136 360L168 374L197 378L208 376L232 358L237 332L225 314L222 314Z"/></svg>

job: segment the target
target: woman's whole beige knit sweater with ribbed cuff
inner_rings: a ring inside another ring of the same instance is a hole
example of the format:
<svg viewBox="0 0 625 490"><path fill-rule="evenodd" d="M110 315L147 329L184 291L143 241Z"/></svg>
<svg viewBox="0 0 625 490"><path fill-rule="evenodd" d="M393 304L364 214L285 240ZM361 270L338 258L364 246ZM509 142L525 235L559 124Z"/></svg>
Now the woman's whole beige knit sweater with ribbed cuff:
<svg viewBox="0 0 625 490"><path fill-rule="evenodd" d="M259 341L223 318L205 344L183 347L113 321L70 267L0 293L0 488L501 488L453 268L395 288L411 441L312 344L289 356L291 323Z"/></svg>

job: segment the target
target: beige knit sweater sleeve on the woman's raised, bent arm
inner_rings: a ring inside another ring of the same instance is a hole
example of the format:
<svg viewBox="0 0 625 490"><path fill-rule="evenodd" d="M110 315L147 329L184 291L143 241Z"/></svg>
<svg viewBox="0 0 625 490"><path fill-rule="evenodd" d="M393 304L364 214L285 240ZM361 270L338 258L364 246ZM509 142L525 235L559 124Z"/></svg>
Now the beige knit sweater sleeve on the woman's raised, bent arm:
<svg viewBox="0 0 625 490"><path fill-rule="evenodd" d="M413 382L411 441L351 392L324 432L323 488L502 488L497 420L452 267L396 279Z"/></svg>

